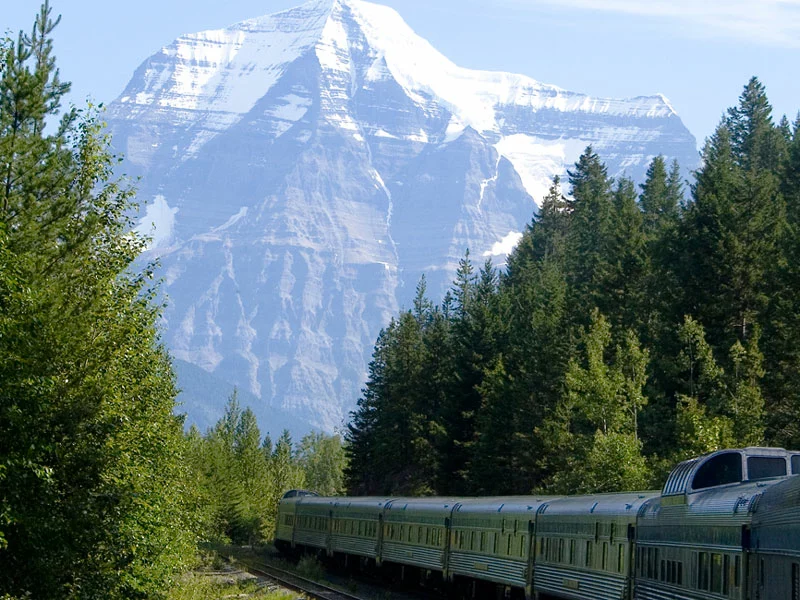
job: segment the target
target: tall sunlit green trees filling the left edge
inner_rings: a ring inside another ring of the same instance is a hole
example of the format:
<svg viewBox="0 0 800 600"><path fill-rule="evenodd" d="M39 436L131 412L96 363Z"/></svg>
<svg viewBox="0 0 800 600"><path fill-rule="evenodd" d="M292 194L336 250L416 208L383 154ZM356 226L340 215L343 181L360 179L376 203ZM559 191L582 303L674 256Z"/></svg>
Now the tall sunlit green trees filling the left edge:
<svg viewBox="0 0 800 600"><path fill-rule="evenodd" d="M45 3L0 44L0 593L158 597L191 482L133 190L97 112L57 112Z"/></svg>

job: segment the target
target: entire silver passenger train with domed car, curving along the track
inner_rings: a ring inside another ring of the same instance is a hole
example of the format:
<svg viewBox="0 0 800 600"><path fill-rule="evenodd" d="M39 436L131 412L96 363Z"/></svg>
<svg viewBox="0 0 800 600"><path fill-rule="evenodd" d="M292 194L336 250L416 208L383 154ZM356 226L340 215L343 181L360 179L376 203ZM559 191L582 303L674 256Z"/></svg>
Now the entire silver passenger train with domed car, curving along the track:
<svg viewBox="0 0 800 600"><path fill-rule="evenodd" d="M291 491L275 544L435 577L462 597L800 600L800 452L721 450L659 492L323 498Z"/></svg>

